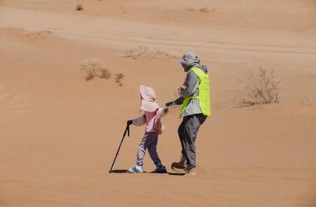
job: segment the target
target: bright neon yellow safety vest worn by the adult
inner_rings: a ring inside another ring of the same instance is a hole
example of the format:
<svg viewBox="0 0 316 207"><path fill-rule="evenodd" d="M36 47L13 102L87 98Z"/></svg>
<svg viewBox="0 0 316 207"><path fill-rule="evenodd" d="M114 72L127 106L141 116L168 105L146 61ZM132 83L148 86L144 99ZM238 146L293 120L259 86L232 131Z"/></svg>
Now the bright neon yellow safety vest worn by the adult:
<svg viewBox="0 0 316 207"><path fill-rule="evenodd" d="M189 103L190 99L199 99L199 108L201 109L204 115L211 115L211 103L209 98L209 75L204 73L200 68L191 68L197 77L199 77L199 94L197 96L187 96L182 103L182 108L180 111L180 115L185 112L185 108Z"/></svg>

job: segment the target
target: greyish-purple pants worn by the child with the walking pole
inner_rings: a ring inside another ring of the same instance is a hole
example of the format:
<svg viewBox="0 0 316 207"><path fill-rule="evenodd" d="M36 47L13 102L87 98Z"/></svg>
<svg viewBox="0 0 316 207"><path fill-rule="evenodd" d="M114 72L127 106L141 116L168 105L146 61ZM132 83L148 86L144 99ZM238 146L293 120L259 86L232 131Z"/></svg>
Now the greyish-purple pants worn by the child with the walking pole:
<svg viewBox="0 0 316 207"><path fill-rule="evenodd" d="M138 146L136 165L143 166L144 156L146 149L150 153L150 158L154 161L154 164L160 163L160 159L157 153L158 133L157 132L145 132L145 135Z"/></svg>

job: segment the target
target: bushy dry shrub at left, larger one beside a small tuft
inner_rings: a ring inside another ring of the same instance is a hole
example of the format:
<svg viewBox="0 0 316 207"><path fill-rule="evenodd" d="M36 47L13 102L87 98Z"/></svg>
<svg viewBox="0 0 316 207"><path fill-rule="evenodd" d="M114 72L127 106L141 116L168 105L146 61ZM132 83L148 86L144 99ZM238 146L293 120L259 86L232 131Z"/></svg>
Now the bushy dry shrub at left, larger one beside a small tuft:
<svg viewBox="0 0 316 207"><path fill-rule="evenodd" d="M95 77L100 77L106 80L111 77L109 70L103 68L98 58L88 58L81 64L81 70L86 71L86 80L92 80Z"/></svg>

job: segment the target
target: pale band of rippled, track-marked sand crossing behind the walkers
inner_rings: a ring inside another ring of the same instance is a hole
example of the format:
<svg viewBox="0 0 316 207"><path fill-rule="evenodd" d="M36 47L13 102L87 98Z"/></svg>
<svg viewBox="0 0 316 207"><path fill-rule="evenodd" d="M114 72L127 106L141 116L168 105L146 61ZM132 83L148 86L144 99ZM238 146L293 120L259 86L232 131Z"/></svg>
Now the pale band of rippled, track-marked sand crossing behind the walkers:
<svg viewBox="0 0 316 207"><path fill-rule="evenodd" d="M20 16L25 18L21 20ZM233 51L237 54L260 52L288 54L289 56L293 54L316 56L316 45L313 43L312 37L306 36L306 39L302 39L295 34L286 32L257 34L252 31L216 27L211 30L204 28L199 33L192 33L190 27L167 27L110 18L84 18L81 16L71 18L70 15L65 14L9 8L1 10L1 18L6 19L6 22L0 22L0 27L23 27L25 30L35 31L51 30L55 35L67 39L109 49L126 50L129 47L145 45L169 51L196 48L208 51ZM223 35L227 42L218 41L218 39L223 39ZM269 41L261 42L260 39L269 39ZM298 47L297 45L300 43L304 46ZM287 46L284 46L285 44Z"/></svg>

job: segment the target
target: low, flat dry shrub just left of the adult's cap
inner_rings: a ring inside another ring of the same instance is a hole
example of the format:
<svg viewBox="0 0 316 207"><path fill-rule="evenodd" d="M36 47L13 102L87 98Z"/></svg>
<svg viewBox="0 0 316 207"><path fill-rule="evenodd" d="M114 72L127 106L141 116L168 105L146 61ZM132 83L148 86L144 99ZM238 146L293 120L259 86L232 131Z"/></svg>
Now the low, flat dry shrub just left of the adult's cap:
<svg viewBox="0 0 316 207"><path fill-rule="evenodd" d="M176 58L169 52L163 51L161 49L148 49L147 46L138 46L136 49L129 49L124 52L123 55L125 58L159 58L159 59L170 59Z"/></svg>

